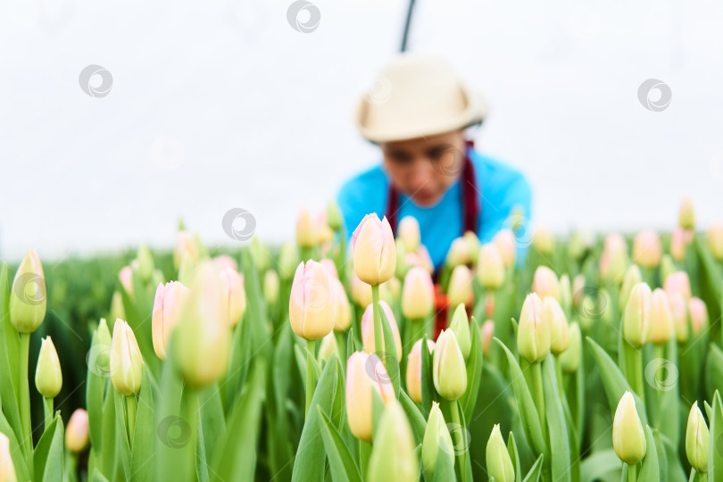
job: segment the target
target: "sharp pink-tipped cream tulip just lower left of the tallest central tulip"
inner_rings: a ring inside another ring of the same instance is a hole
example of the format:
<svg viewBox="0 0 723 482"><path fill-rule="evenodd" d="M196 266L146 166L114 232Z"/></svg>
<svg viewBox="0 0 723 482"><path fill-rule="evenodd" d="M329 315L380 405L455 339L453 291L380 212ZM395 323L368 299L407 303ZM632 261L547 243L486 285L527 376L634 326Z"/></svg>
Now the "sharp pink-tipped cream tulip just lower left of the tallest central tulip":
<svg viewBox="0 0 723 482"><path fill-rule="evenodd" d="M291 328L299 337L325 337L337 322L337 302L332 278L318 262L299 263L289 298Z"/></svg>

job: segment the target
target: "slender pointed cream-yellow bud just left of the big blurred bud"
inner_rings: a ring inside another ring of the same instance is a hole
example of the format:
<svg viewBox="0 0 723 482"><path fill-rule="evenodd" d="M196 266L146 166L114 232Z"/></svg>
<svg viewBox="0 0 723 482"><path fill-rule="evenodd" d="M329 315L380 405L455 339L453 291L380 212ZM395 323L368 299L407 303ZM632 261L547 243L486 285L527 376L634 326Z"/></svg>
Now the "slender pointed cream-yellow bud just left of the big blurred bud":
<svg viewBox="0 0 723 482"><path fill-rule="evenodd" d="M120 395L136 395L143 375L143 358L136 335L124 320L115 320L111 345L111 381Z"/></svg>

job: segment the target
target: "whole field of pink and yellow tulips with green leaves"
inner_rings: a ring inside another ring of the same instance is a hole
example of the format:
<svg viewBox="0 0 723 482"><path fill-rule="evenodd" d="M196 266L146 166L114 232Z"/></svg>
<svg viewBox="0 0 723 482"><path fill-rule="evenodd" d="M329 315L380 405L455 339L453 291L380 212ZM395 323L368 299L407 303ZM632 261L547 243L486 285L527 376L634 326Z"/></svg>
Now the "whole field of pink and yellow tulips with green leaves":
<svg viewBox="0 0 723 482"><path fill-rule="evenodd" d="M723 480L723 225L527 228L2 263L0 482Z"/></svg>

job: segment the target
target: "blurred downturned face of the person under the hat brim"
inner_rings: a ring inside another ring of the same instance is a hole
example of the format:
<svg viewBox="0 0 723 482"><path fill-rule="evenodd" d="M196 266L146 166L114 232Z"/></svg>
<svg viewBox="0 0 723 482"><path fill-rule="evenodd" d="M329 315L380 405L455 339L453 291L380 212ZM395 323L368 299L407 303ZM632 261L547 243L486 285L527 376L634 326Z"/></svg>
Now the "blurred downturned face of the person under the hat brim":
<svg viewBox="0 0 723 482"><path fill-rule="evenodd" d="M464 132L379 144L384 167L395 184L414 204L437 204L459 179L464 166Z"/></svg>

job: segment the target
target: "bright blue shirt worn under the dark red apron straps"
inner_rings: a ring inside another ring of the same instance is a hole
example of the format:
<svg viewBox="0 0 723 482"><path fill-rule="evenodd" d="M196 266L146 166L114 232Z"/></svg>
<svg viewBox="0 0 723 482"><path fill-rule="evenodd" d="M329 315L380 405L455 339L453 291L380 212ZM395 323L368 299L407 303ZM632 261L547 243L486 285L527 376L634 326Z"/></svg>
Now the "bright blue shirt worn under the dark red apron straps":
<svg viewBox="0 0 723 482"><path fill-rule="evenodd" d="M483 243L492 240L494 234L509 228L508 218L519 206L524 222L516 235L518 240L517 262L524 262L528 251L531 214L531 191L528 180L511 166L470 149L470 160L477 179L480 214L478 237ZM344 214L348 234L356 229L366 214L376 212L379 218L386 212L389 179L381 165L349 179L339 191L337 202ZM420 223L421 242L429 251L435 267L445 262L446 253L462 230L461 180L457 180L438 204L421 207L409 196L400 193L397 220L413 216ZM519 265L518 264L518 265Z"/></svg>

